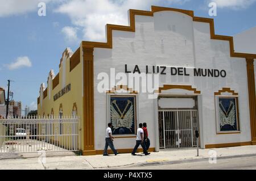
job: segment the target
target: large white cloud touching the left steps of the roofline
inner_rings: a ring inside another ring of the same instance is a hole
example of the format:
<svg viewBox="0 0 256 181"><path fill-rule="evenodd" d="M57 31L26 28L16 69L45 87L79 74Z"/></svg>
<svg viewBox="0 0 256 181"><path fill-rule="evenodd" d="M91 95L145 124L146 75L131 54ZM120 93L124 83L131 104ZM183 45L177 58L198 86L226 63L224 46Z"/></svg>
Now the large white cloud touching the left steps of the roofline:
<svg viewBox="0 0 256 181"><path fill-rule="evenodd" d="M55 12L66 14L76 27L81 27L84 40L105 41L105 25L128 25L129 9L150 10L151 5L183 4L189 0L71 0L63 2Z"/></svg>

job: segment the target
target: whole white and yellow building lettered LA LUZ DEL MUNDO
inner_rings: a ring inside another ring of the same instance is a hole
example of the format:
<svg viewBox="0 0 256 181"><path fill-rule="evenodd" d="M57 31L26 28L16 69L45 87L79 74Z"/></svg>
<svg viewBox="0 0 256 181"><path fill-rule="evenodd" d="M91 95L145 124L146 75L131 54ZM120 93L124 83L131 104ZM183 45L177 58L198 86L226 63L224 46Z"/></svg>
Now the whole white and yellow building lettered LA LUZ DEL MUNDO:
<svg viewBox="0 0 256 181"><path fill-rule="evenodd" d="M119 153L131 153L143 122L149 151L193 147L195 131L201 148L255 145L256 54L238 53L233 37L216 35L213 19L193 11L129 13L129 26L107 24L106 43L82 41L75 53L64 51L59 73L51 70L40 86L38 114L78 115L83 155L103 153L109 122ZM156 73L153 93L122 79Z"/></svg>

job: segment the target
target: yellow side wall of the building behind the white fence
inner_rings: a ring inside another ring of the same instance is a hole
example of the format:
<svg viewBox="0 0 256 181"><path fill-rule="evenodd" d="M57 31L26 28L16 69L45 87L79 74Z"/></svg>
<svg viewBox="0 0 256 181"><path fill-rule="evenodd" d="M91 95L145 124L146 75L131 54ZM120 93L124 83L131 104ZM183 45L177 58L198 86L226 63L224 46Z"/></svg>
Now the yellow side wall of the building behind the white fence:
<svg viewBox="0 0 256 181"><path fill-rule="evenodd" d="M60 60L59 73L55 75L53 70L49 72L47 88L43 83L40 86L38 115L43 117L80 116L78 127L80 138L82 138L83 117L81 115L83 115L83 100L81 98L83 82L80 56L80 48L75 53L72 53L67 48ZM79 79L79 77L81 78ZM65 126L60 124L53 124L53 128L50 129L52 134L65 134L67 132ZM54 139L52 137L53 141L51 142L54 142ZM61 144L61 140L59 140L58 144ZM65 144L62 146L65 146ZM82 148L82 145L80 147Z"/></svg>

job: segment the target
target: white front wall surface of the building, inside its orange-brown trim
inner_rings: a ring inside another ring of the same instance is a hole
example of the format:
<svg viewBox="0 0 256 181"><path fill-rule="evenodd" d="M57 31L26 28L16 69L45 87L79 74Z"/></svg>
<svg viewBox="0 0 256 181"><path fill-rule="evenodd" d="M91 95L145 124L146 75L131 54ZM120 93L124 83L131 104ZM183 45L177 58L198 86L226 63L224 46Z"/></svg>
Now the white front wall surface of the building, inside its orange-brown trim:
<svg viewBox="0 0 256 181"><path fill-rule="evenodd" d="M155 12L154 16L135 15L135 32L113 31L113 48L94 48L94 136L95 149L105 145L109 96L100 93L98 74L124 73L138 65L187 68L190 76L160 75L163 85L189 85L201 93L181 89L166 90L162 95L197 95L199 104L201 148L209 144L226 144L251 141L249 96L245 58L230 57L229 41L210 39L209 23L193 22L191 16L175 11ZM225 70L226 77L194 77L193 68ZM118 81L116 81L118 82ZM117 86L117 85L116 85ZM238 92L240 131L238 134L216 134L216 109L214 92L230 87ZM111 90L109 86L109 90ZM148 99L147 94L137 95L137 127L147 122L151 146L158 150L158 99ZM116 149L130 149L135 138L116 138Z"/></svg>

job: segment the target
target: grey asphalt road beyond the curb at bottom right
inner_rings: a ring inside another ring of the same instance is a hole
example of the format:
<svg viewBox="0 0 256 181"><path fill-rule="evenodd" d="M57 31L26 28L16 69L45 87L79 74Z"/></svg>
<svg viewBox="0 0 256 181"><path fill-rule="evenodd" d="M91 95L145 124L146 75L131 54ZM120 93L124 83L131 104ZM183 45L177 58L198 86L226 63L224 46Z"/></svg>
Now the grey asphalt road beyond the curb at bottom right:
<svg viewBox="0 0 256 181"><path fill-rule="evenodd" d="M238 158L225 158L217 159L217 163L209 163L207 160L189 162L189 163L176 163L168 165L146 165L146 166L130 166L130 167L119 167L118 169L129 169L129 170L236 170L236 169L249 169L256 170L256 157L238 157Z"/></svg>

